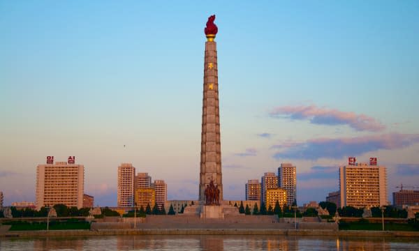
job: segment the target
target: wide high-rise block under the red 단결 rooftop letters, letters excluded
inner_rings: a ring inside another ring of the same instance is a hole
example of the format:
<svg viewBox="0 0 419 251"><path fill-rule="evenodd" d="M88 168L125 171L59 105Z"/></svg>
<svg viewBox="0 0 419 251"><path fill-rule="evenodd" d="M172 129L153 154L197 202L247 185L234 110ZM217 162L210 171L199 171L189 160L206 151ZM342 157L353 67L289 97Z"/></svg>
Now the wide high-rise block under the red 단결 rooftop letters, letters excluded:
<svg viewBox="0 0 419 251"><path fill-rule="evenodd" d="M356 163L339 167L339 186L341 206L365 208L388 204L383 166Z"/></svg>

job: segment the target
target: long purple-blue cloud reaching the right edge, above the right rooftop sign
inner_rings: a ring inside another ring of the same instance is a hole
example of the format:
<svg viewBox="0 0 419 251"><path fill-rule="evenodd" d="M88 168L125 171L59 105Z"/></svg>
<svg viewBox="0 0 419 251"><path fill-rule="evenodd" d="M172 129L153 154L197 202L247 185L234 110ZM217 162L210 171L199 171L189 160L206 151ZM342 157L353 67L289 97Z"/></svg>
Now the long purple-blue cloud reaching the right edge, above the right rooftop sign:
<svg viewBox="0 0 419 251"><path fill-rule="evenodd" d="M282 150L274 153L275 159L318 160L319 158L340 159L382 149L402 149L418 142L418 134L390 133L339 139L309 139L306 142L295 142L295 144L286 142L285 146L275 145L271 148Z"/></svg>

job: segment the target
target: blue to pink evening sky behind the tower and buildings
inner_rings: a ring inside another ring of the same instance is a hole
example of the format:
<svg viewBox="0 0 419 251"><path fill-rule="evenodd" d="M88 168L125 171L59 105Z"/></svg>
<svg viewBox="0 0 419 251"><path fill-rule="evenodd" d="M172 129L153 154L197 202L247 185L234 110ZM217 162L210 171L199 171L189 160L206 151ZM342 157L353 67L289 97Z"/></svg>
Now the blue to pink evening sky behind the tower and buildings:
<svg viewBox="0 0 419 251"><path fill-rule="evenodd" d="M48 155L117 204L117 167L198 199L207 17L216 15L224 199L297 167L297 203L378 158L419 187L419 1L0 0L0 190L35 201Z"/></svg>

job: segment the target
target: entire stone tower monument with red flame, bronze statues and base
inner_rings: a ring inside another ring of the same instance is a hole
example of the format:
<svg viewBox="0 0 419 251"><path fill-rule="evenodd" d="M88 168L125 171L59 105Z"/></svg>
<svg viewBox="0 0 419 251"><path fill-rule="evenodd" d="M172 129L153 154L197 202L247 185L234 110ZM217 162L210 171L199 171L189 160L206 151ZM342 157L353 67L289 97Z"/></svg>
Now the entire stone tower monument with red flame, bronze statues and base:
<svg viewBox="0 0 419 251"><path fill-rule="evenodd" d="M205 27L205 59L203 86L203 123L201 131L199 204L187 206L184 215L222 219L226 215L240 215L238 208L223 201L221 174L221 141L219 112L218 65L215 15L208 17Z"/></svg>

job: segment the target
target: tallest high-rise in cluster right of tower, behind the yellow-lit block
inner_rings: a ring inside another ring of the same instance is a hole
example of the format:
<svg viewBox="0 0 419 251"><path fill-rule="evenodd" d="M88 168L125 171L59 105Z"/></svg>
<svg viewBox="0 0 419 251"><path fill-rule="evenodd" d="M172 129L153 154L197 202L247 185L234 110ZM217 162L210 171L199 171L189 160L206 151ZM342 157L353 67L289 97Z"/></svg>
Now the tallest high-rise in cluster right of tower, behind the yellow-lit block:
<svg viewBox="0 0 419 251"><path fill-rule="evenodd" d="M278 167L278 187L286 190L286 204L291 206L297 199L297 168L291 163Z"/></svg>

